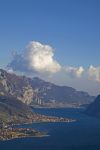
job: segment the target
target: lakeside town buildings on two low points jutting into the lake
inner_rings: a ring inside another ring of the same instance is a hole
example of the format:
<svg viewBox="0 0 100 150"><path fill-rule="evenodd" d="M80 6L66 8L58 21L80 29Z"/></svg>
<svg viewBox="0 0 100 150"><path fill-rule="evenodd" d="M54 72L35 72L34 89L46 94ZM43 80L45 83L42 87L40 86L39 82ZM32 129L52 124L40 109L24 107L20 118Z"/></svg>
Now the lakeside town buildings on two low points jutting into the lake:
<svg viewBox="0 0 100 150"><path fill-rule="evenodd" d="M63 117L52 117L45 116L40 114L34 114L27 122L23 124L30 124L36 122L73 122L75 120ZM5 124L4 122L0 123L0 140L6 141L15 138L25 138L25 137L43 137L47 136L47 133L34 130L33 128L17 128L14 125L20 125L20 123L11 122L9 124Z"/></svg>

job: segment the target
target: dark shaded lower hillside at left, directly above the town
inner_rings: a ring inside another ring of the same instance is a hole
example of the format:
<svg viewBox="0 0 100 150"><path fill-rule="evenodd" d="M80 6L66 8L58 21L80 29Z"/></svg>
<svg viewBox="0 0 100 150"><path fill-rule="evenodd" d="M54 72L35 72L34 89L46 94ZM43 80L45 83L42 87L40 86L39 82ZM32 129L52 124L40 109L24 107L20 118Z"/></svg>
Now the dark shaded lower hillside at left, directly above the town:
<svg viewBox="0 0 100 150"><path fill-rule="evenodd" d="M0 96L0 122L24 123L32 115L32 110L14 97Z"/></svg>

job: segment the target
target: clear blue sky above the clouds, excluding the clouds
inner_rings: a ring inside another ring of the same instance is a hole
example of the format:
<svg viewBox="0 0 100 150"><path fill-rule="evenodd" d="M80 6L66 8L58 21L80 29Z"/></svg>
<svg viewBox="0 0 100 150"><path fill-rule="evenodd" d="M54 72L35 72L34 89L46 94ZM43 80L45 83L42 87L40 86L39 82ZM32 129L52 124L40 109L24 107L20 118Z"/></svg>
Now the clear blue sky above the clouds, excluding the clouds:
<svg viewBox="0 0 100 150"><path fill-rule="evenodd" d="M0 67L11 61L13 50L22 53L30 41L52 46L63 66L99 67L100 1L1 0ZM75 82L66 79L77 87Z"/></svg>

